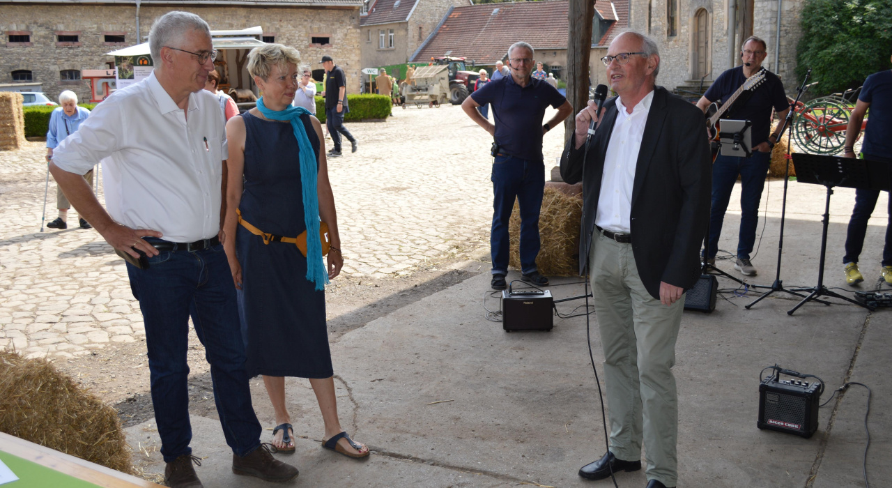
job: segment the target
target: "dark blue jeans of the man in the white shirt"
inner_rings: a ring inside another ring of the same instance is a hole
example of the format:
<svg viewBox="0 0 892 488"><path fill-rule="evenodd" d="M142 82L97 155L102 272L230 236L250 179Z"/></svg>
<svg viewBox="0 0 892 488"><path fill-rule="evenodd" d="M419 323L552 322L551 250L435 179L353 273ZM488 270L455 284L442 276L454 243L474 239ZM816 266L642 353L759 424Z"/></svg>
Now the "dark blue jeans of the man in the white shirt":
<svg viewBox="0 0 892 488"><path fill-rule="evenodd" d="M127 273L145 320L152 402L164 461L192 452L186 385L190 316L204 357L211 363L214 401L227 444L237 456L249 454L260 446L260 423L251 404L235 285L223 246L161 252L148 261L148 269L128 263Z"/></svg>

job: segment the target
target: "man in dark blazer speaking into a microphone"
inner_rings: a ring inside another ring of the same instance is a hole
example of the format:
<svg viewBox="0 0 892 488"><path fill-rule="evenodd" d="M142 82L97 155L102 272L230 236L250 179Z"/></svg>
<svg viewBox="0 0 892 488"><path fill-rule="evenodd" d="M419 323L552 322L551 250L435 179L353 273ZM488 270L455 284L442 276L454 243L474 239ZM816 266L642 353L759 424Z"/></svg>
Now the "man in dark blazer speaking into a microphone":
<svg viewBox="0 0 892 488"><path fill-rule="evenodd" d="M616 37L602 58L610 87L586 155L590 102L576 116L561 177L582 181L580 269L591 275L604 350L610 448L586 479L641 467L648 488L675 486L678 394L672 368L684 291L699 276L711 164L703 113L656 86L657 44ZM583 161L584 160L584 161Z"/></svg>

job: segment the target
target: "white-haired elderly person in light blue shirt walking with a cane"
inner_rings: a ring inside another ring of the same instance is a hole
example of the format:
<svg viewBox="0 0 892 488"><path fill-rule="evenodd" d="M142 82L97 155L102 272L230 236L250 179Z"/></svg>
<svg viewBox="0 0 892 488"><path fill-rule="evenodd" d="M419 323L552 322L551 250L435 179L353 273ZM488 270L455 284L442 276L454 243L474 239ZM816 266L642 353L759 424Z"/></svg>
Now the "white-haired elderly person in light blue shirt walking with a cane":
<svg viewBox="0 0 892 488"><path fill-rule="evenodd" d="M90 111L84 107L78 107L78 95L71 90L65 90L59 94L59 103L61 107L55 109L50 114L49 130L46 132L46 162L53 159L53 150L59 143L65 140L65 137L74 134L80 123L87 120ZM87 171L84 179L93 189L93 170ZM44 195L44 211L46 210L46 195ZM52 222L46 224L49 228L68 228L68 211L71 208L68 198L62 193L62 187L56 188L56 208L59 209L59 217ZM90 228L90 224L85 219L78 219L80 228Z"/></svg>

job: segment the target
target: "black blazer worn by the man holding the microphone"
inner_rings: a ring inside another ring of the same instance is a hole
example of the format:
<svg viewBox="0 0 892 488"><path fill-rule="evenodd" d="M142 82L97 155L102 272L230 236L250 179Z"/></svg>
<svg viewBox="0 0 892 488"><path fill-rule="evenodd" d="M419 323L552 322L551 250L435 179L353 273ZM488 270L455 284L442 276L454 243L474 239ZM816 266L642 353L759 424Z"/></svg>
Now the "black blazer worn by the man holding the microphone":
<svg viewBox="0 0 892 488"><path fill-rule="evenodd" d="M570 137L560 161L566 183L582 181L581 275L589 259L604 157L616 121L615 100L610 98L604 105L587 161L583 164L584 145L574 148L575 136ZM700 244L712 192L710 159L703 112L664 87L656 87L635 168L631 215L635 264L654 298L660 296L661 281L689 289L700 275Z"/></svg>

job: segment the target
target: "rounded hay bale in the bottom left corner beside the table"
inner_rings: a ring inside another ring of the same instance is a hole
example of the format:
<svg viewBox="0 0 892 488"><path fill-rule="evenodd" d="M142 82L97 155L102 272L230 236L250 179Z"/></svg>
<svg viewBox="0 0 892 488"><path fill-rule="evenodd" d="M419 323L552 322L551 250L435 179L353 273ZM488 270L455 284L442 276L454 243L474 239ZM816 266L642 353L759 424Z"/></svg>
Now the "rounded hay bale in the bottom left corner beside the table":
<svg viewBox="0 0 892 488"><path fill-rule="evenodd" d="M118 412L46 360L0 351L0 431L134 473Z"/></svg>

